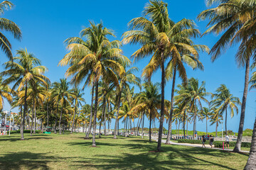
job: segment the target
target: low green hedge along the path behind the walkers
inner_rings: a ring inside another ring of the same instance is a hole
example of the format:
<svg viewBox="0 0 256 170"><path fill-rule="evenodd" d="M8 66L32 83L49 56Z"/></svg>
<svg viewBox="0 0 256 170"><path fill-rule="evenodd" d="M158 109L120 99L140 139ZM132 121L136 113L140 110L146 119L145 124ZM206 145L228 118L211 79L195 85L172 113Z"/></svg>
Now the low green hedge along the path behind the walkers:
<svg viewBox="0 0 256 170"><path fill-rule="evenodd" d="M178 140L178 143L190 143L190 144L202 144L201 140ZM230 142L230 147L235 147L236 142ZM206 140L205 144L209 144L209 141ZM223 147L223 141L214 141L213 142L214 147ZM242 142L241 147L250 147L250 142Z"/></svg>

